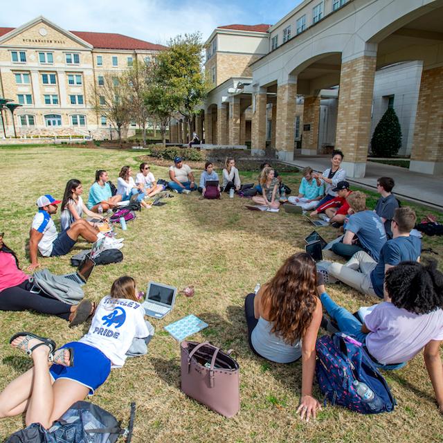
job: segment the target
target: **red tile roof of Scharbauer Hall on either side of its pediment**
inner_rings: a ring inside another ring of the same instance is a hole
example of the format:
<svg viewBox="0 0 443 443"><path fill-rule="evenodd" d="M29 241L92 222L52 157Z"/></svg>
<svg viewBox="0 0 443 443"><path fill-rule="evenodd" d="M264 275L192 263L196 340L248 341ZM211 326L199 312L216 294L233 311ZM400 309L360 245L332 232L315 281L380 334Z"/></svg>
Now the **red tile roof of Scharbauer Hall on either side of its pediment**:
<svg viewBox="0 0 443 443"><path fill-rule="evenodd" d="M0 37L9 33L15 28L0 28ZM100 49L145 49L148 51L163 51L166 46L145 42L144 40L127 37L127 35L112 33L87 33L78 30L71 30L71 33L77 35L85 42L91 44L94 48Z"/></svg>

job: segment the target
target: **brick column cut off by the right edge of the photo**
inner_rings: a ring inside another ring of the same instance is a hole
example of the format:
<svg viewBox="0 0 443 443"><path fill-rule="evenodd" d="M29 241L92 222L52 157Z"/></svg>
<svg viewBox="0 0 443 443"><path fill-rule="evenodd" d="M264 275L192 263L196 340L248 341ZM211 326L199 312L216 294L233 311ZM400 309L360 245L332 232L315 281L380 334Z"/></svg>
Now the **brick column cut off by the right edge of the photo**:
<svg viewBox="0 0 443 443"><path fill-rule="evenodd" d="M411 171L443 174L443 67L422 72Z"/></svg>

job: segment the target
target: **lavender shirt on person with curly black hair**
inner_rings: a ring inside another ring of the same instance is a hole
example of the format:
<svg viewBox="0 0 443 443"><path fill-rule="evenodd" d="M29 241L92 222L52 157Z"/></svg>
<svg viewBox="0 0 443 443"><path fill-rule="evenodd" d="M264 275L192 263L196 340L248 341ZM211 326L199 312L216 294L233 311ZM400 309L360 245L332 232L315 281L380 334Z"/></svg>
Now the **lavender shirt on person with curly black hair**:
<svg viewBox="0 0 443 443"><path fill-rule="evenodd" d="M413 358L431 340L443 340L443 310L413 314L381 302L365 316L371 331L366 336L370 354L383 364L404 363Z"/></svg>

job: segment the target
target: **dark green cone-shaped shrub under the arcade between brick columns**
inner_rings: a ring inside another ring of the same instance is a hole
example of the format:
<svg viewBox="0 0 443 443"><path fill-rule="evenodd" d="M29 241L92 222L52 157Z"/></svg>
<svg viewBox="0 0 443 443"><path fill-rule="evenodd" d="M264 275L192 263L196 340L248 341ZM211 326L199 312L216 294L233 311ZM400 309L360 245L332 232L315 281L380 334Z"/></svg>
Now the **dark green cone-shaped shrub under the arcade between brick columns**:
<svg viewBox="0 0 443 443"><path fill-rule="evenodd" d="M386 109L372 135L371 150L377 157L392 157L401 147L400 122L393 108Z"/></svg>

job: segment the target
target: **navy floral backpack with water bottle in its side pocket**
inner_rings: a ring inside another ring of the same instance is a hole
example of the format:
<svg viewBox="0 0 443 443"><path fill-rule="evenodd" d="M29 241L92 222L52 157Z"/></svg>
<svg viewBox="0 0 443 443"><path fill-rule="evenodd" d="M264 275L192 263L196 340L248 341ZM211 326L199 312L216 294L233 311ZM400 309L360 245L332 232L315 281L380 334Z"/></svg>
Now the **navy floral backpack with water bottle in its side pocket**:
<svg viewBox="0 0 443 443"><path fill-rule="evenodd" d="M361 414L390 412L396 404L388 384L354 338L341 332L318 338L316 374L321 392L332 405Z"/></svg>

